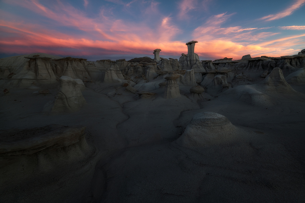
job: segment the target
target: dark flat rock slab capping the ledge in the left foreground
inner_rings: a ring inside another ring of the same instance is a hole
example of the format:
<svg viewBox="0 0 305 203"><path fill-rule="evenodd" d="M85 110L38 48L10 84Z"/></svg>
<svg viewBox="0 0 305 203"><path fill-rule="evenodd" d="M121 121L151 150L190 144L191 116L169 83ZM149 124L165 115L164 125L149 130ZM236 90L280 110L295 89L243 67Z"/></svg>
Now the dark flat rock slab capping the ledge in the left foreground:
<svg viewBox="0 0 305 203"><path fill-rule="evenodd" d="M62 148L79 142L84 126L47 125L24 130L0 131L0 156L34 154L48 147Z"/></svg>

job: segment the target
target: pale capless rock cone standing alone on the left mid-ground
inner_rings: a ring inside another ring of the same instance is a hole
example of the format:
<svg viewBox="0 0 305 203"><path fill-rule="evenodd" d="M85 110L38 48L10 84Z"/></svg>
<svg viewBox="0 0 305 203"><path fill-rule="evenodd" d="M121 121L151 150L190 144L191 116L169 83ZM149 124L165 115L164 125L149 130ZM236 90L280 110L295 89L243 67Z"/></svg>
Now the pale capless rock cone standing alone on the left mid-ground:
<svg viewBox="0 0 305 203"><path fill-rule="evenodd" d="M77 82L68 76L61 76L59 78L59 92L57 92L53 101L44 106L43 111L69 113L80 110L85 104L86 100L81 94Z"/></svg>

